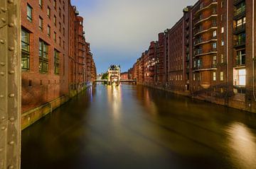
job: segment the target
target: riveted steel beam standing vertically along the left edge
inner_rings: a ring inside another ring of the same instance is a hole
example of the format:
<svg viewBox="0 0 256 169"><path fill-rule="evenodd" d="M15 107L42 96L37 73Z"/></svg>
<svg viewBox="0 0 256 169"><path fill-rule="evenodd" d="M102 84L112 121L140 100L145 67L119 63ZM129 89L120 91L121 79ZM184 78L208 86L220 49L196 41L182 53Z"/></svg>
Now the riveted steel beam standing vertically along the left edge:
<svg viewBox="0 0 256 169"><path fill-rule="evenodd" d="M20 0L0 1L0 168L21 162Z"/></svg>

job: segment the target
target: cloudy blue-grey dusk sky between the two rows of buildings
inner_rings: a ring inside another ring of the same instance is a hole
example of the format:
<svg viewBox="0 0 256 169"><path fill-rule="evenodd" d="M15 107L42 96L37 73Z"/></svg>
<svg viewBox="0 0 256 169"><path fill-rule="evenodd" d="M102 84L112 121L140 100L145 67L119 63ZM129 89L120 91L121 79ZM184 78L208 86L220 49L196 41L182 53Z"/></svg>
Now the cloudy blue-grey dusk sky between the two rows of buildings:
<svg viewBox="0 0 256 169"><path fill-rule="evenodd" d="M97 73L110 64L127 71L137 58L196 0L71 0L84 21Z"/></svg>

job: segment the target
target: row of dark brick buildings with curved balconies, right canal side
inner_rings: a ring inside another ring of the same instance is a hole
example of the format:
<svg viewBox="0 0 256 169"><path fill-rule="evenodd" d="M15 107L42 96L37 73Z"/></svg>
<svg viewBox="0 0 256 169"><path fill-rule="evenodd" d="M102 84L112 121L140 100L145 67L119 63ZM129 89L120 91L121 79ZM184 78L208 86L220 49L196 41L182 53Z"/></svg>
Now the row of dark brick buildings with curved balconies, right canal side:
<svg viewBox="0 0 256 169"><path fill-rule="evenodd" d="M142 83L256 112L255 32L255 1L199 0L150 43Z"/></svg>

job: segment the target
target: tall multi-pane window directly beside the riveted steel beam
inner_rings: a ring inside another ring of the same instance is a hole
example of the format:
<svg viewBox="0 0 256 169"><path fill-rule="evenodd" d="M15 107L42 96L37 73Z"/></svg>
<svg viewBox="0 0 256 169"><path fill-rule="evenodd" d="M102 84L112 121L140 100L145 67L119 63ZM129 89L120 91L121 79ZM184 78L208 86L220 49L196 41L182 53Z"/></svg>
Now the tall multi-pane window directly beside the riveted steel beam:
<svg viewBox="0 0 256 169"><path fill-rule="evenodd" d="M26 30L21 29L21 69L23 71L29 70L29 33Z"/></svg>

